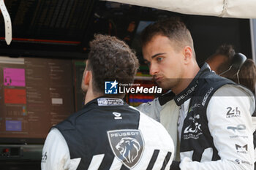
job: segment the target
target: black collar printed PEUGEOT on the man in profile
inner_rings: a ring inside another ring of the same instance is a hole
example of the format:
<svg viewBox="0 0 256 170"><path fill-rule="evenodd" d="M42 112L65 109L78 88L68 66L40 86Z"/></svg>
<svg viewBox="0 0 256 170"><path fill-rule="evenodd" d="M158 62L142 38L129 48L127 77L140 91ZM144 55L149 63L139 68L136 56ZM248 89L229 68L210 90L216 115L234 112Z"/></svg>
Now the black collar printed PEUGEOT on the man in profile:
<svg viewBox="0 0 256 170"><path fill-rule="evenodd" d="M197 74L195 75L195 78L192 80L192 82L189 83L187 88L185 88L183 91L181 91L181 93L179 93L174 97L174 101L178 106L181 106L181 104L184 104L184 102L187 101L187 99L193 96L193 94L195 93L195 88L198 85L198 80L201 74L203 74L203 72L210 72L210 71L211 69L208 66L208 63L203 63L203 66L200 67L199 72L197 72Z"/></svg>

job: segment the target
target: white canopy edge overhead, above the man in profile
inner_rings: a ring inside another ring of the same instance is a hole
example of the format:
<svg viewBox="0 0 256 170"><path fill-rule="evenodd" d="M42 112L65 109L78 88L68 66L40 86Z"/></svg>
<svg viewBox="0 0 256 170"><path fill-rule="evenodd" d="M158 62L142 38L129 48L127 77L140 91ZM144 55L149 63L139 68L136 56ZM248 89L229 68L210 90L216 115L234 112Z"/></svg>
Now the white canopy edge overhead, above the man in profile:
<svg viewBox="0 0 256 170"><path fill-rule="evenodd" d="M256 0L107 0L190 15L256 18Z"/></svg>

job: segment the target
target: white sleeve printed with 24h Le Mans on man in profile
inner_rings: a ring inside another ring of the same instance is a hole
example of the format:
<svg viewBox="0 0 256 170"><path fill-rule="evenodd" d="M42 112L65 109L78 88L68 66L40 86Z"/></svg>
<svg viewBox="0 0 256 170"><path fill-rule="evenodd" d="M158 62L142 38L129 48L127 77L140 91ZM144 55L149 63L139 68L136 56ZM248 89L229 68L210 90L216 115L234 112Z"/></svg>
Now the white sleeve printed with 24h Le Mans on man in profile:
<svg viewBox="0 0 256 170"><path fill-rule="evenodd" d="M219 88L207 108L208 128L219 161L181 161L181 170L254 169L252 110L254 99L234 85Z"/></svg>

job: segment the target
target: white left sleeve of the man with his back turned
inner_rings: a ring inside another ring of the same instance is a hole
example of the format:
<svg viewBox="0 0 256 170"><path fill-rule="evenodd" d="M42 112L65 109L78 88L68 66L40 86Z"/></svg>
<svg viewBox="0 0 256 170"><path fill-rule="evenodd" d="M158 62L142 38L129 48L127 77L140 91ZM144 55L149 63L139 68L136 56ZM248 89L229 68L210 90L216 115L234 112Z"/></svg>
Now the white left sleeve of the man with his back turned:
<svg viewBox="0 0 256 170"><path fill-rule="evenodd" d="M67 142L57 128L50 130L44 147L42 148L42 170L75 170L78 168L80 158L70 160Z"/></svg>

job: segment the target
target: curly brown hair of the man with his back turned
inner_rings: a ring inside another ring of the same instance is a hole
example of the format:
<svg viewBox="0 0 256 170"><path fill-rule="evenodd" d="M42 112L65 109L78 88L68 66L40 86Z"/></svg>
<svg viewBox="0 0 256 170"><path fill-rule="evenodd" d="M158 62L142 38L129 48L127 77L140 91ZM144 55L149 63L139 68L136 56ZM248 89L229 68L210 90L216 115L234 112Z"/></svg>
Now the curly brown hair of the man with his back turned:
<svg viewBox="0 0 256 170"><path fill-rule="evenodd" d="M87 69L93 75L94 92L104 93L105 81L116 80L123 84L133 82L139 62L125 42L114 36L97 34L90 42L90 47ZM115 96L122 97L124 94Z"/></svg>

